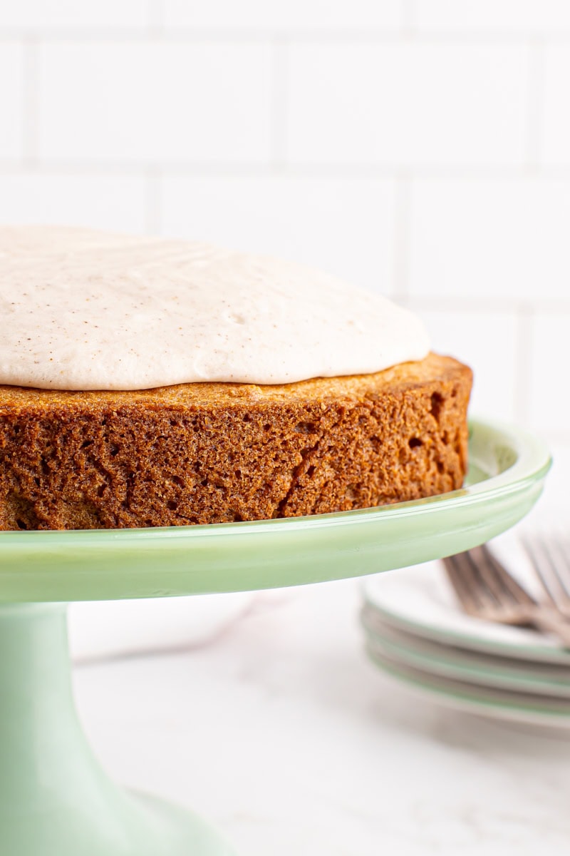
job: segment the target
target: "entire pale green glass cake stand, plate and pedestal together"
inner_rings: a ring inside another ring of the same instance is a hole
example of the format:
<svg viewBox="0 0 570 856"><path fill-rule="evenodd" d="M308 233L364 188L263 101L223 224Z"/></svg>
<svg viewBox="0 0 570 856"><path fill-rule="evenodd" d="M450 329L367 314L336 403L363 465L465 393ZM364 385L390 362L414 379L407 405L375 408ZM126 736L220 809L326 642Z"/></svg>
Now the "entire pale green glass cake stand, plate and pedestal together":
<svg viewBox="0 0 570 856"><path fill-rule="evenodd" d="M466 488L417 502L218 526L0 532L0 856L230 856L199 817L123 791L97 764L73 706L64 604L298 586L467 550L532 508L550 464L538 440L484 422L472 423L469 449Z"/></svg>

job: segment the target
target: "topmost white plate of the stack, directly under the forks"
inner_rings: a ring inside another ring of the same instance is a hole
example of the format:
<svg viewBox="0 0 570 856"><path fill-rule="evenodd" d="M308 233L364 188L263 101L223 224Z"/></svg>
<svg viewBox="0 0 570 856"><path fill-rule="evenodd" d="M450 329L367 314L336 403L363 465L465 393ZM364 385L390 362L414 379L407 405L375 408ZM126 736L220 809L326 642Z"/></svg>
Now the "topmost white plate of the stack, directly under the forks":
<svg viewBox="0 0 570 856"><path fill-rule="evenodd" d="M522 585L538 594L538 583L517 539L503 536L491 546ZM371 608L385 621L409 633L503 657L570 665L570 651L555 639L522 627L481 621L461 612L439 562L378 574L366 580L363 590Z"/></svg>

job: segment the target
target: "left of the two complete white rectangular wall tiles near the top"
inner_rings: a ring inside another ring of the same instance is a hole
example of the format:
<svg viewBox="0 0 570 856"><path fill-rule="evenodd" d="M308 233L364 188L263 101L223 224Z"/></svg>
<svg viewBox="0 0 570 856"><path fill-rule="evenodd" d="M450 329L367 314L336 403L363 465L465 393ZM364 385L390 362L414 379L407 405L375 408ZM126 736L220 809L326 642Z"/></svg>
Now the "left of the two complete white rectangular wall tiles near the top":
<svg viewBox="0 0 570 856"><path fill-rule="evenodd" d="M271 74L269 45L42 45L39 157L267 163Z"/></svg>

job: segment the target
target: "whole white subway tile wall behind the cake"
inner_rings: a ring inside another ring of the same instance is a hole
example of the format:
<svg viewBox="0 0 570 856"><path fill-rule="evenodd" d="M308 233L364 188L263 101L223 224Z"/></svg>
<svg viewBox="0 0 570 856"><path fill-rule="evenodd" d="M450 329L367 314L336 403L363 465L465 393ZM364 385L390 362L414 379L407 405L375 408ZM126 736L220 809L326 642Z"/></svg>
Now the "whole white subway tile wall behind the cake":
<svg viewBox="0 0 570 856"><path fill-rule="evenodd" d="M0 0L0 219L391 294L570 449L567 0Z"/></svg>

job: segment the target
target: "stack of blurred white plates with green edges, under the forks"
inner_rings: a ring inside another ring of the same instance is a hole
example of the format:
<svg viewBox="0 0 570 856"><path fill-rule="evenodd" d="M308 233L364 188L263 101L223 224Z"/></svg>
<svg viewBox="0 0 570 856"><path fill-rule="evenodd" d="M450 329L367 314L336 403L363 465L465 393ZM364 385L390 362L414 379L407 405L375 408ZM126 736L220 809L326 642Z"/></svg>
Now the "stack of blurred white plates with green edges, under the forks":
<svg viewBox="0 0 570 856"><path fill-rule="evenodd" d="M536 588L520 558L505 563ZM370 578L364 597L367 653L380 669L455 708L570 728L570 651L541 633L465 615L439 562Z"/></svg>

